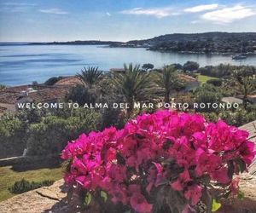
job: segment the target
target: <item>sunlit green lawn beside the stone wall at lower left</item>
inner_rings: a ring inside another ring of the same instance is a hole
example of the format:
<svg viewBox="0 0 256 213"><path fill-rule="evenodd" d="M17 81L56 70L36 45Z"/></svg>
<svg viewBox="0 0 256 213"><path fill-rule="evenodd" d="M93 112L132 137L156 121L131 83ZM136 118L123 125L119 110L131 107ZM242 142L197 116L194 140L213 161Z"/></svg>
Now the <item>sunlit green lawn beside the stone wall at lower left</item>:
<svg viewBox="0 0 256 213"><path fill-rule="evenodd" d="M20 181L22 178L27 181L57 181L62 176L61 168L14 171L11 170L11 166L0 167L0 202L15 196L15 194L9 193L8 187L11 187L15 181Z"/></svg>

